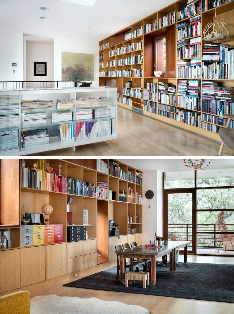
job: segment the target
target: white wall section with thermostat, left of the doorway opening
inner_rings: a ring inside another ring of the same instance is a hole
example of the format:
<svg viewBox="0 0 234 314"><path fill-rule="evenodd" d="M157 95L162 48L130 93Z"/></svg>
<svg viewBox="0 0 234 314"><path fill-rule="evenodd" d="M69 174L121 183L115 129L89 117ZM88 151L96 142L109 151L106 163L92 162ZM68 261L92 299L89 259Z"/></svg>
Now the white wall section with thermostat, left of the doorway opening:
<svg viewBox="0 0 234 314"><path fill-rule="evenodd" d="M24 34L16 30L0 29L0 43L0 81L23 81ZM12 63L17 63L17 66L13 67Z"/></svg>

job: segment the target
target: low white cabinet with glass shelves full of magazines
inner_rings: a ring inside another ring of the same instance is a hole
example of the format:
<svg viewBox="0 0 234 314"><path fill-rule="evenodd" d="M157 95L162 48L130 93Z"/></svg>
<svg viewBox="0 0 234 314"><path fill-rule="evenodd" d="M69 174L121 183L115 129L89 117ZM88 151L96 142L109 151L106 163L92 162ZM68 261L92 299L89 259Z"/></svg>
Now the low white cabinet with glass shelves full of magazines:
<svg viewBox="0 0 234 314"><path fill-rule="evenodd" d="M0 111L1 155L75 150L117 138L113 87L0 90Z"/></svg>

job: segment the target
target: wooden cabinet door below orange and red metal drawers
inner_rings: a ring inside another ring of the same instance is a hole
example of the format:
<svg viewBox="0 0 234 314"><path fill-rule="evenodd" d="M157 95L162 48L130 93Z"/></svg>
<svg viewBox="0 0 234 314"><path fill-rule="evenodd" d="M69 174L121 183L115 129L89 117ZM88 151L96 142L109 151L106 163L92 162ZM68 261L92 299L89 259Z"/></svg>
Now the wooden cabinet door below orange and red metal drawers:
<svg viewBox="0 0 234 314"><path fill-rule="evenodd" d="M66 243L47 245L46 280L66 274Z"/></svg>

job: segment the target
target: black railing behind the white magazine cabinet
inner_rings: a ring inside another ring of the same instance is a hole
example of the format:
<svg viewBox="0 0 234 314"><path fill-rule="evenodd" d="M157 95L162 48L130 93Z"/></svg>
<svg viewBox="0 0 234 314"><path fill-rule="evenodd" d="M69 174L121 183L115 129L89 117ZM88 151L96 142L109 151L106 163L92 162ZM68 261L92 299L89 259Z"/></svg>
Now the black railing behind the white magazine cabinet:
<svg viewBox="0 0 234 314"><path fill-rule="evenodd" d="M91 85L92 81L2 81L0 82L0 89L76 88Z"/></svg>

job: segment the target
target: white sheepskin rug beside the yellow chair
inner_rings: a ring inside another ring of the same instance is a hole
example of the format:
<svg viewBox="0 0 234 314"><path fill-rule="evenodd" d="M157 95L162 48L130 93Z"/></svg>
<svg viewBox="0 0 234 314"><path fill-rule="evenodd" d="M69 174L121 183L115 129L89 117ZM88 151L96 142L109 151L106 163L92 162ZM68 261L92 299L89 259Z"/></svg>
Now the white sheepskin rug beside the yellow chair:
<svg viewBox="0 0 234 314"><path fill-rule="evenodd" d="M71 296L40 295L30 299L30 314L149 314L139 305L97 298L82 299Z"/></svg>

